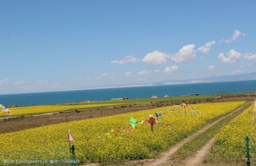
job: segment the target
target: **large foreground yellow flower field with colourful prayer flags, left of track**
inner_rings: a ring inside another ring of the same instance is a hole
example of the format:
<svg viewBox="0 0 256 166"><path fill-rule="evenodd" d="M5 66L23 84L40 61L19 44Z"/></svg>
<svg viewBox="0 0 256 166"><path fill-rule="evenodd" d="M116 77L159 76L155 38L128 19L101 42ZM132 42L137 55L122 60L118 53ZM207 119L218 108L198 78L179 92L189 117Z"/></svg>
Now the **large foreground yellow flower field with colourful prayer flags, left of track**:
<svg viewBox="0 0 256 166"><path fill-rule="evenodd" d="M0 134L0 161L3 159L70 159L68 130L74 138L76 159L80 162L122 161L153 158L167 150L204 125L244 105L240 102L222 102L192 105L202 114L171 114L158 121L168 127L154 125L151 133L148 123L129 126L130 117L142 117L170 108L162 107L112 116L76 120L41 126L18 132ZM3 127L3 126L2 126ZM60 147L62 148L62 150ZM65 148L66 147L66 148Z"/></svg>

